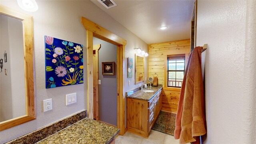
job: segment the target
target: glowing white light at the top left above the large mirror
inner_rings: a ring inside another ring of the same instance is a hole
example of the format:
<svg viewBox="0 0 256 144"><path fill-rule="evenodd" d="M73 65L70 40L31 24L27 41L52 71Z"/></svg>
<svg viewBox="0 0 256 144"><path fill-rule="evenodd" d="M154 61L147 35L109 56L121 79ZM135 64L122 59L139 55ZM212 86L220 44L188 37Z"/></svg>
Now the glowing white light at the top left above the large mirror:
<svg viewBox="0 0 256 144"><path fill-rule="evenodd" d="M35 12L38 10L36 0L17 0L17 2L20 8L28 12Z"/></svg>

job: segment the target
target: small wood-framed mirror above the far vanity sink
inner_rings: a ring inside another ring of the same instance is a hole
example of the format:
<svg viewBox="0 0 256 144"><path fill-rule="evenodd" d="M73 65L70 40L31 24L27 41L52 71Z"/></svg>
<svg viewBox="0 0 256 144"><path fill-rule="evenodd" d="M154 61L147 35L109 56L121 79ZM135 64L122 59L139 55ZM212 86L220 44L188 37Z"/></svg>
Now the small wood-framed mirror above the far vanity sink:
<svg viewBox="0 0 256 144"><path fill-rule="evenodd" d="M144 81L144 58L135 54L135 84Z"/></svg>

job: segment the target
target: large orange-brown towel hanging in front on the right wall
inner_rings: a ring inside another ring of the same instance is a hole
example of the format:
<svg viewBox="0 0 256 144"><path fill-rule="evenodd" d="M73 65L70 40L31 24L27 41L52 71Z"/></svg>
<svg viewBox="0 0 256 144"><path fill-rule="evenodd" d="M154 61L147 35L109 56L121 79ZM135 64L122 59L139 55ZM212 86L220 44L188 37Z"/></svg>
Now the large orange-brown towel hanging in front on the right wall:
<svg viewBox="0 0 256 144"><path fill-rule="evenodd" d="M189 142L200 143L198 141L200 140L200 138L197 136L206 134L201 51L202 47L200 46L194 48L191 54L188 71L186 74L186 83L185 86L183 87L183 89L185 90L183 99L183 109L180 110L182 111L180 144L185 144ZM181 94L182 93L183 92L181 92ZM181 101L179 101L178 103L178 108L182 107L180 105L182 105ZM177 127L176 135L179 132L178 128L179 127Z"/></svg>

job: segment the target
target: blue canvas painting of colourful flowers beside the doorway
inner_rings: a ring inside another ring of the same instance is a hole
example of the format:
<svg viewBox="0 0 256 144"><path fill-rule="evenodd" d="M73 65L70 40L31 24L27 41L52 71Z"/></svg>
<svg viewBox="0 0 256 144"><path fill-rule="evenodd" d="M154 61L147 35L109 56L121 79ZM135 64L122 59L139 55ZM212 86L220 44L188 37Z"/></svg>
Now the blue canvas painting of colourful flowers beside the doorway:
<svg viewBox="0 0 256 144"><path fill-rule="evenodd" d="M83 45L45 36L46 88L84 83Z"/></svg>

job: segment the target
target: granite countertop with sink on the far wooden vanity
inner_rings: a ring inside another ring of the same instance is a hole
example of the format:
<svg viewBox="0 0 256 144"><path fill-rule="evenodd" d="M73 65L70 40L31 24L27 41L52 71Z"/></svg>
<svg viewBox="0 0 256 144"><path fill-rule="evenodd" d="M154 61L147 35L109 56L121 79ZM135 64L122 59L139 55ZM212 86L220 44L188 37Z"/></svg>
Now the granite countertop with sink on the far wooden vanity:
<svg viewBox="0 0 256 144"><path fill-rule="evenodd" d="M162 85L152 86L151 88L148 86L148 88L144 90L154 90L154 92L143 92L142 90L138 90L134 94L126 96L126 98L134 98L138 100L150 100L162 88L163 88Z"/></svg>

